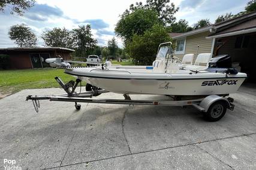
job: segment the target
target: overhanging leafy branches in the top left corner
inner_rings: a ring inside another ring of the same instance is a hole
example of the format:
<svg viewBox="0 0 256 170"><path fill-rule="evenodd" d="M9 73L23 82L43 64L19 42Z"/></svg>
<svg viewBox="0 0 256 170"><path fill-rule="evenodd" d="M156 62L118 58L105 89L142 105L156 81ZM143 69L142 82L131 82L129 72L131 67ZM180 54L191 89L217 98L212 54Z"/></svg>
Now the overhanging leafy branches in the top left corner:
<svg viewBox="0 0 256 170"><path fill-rule="evenodd" d="M9 7L11 14L17 13L22 16L24 12L31 8L34 4L35 0L1 0L0 11L4 12L6 7Z"/></svg>

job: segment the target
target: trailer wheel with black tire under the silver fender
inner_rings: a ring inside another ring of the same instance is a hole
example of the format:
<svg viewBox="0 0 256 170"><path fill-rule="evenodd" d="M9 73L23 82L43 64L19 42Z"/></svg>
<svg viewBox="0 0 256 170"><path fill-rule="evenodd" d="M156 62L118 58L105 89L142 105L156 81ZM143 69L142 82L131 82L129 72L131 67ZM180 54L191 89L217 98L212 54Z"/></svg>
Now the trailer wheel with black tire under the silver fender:
<svg viewBox="0 0 256 170"><path fill-rule="evenodd" d="M221 119L227 111L227 102L216 101L213 103L205 113L206 119L210 122L215 122Z"/></svg>

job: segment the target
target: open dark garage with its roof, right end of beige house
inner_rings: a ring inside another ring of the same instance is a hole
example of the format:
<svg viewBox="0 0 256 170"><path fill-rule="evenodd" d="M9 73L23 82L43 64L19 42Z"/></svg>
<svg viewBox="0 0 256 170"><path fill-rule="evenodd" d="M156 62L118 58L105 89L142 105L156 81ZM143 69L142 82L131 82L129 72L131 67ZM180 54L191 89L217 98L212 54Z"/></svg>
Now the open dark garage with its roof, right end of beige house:
<svg viewBox="0 0 256 170"><path fill-rule="evenodd" d="M207 38L215 39L213 55L228 54L232 67L248 74L249 82L256 82L256 18L225 27Z"/></svg>

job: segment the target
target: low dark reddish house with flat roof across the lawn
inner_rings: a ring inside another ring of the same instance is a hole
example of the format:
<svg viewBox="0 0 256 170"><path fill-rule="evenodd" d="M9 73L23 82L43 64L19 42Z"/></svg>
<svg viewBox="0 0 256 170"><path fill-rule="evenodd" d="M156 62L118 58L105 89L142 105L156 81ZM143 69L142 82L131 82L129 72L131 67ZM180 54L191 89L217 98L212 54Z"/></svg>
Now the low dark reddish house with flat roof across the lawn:
<svg viewBox="0 0 256 170"><path fill-rule="evenodd" d="M10 69L49 67L46 58L60 55L64 60L70 60L71 52L74 50L62 47L0 48L0 54L9 56Z"/></svg>

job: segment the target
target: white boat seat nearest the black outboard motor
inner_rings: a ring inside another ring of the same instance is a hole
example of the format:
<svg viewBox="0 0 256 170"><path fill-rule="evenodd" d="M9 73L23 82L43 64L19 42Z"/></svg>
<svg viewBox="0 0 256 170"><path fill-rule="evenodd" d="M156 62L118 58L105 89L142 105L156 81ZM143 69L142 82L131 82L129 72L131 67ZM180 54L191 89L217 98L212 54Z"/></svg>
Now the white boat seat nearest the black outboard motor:
<svg viewBox="0 0 256 170"><path fill-rule="evenodd" d="M208 68L208 63L212 58L211 53L201 53L197 55L197 59L195 59L195 63L193 65L189 64L185 66L186 70L199 71Z"/></svg>

